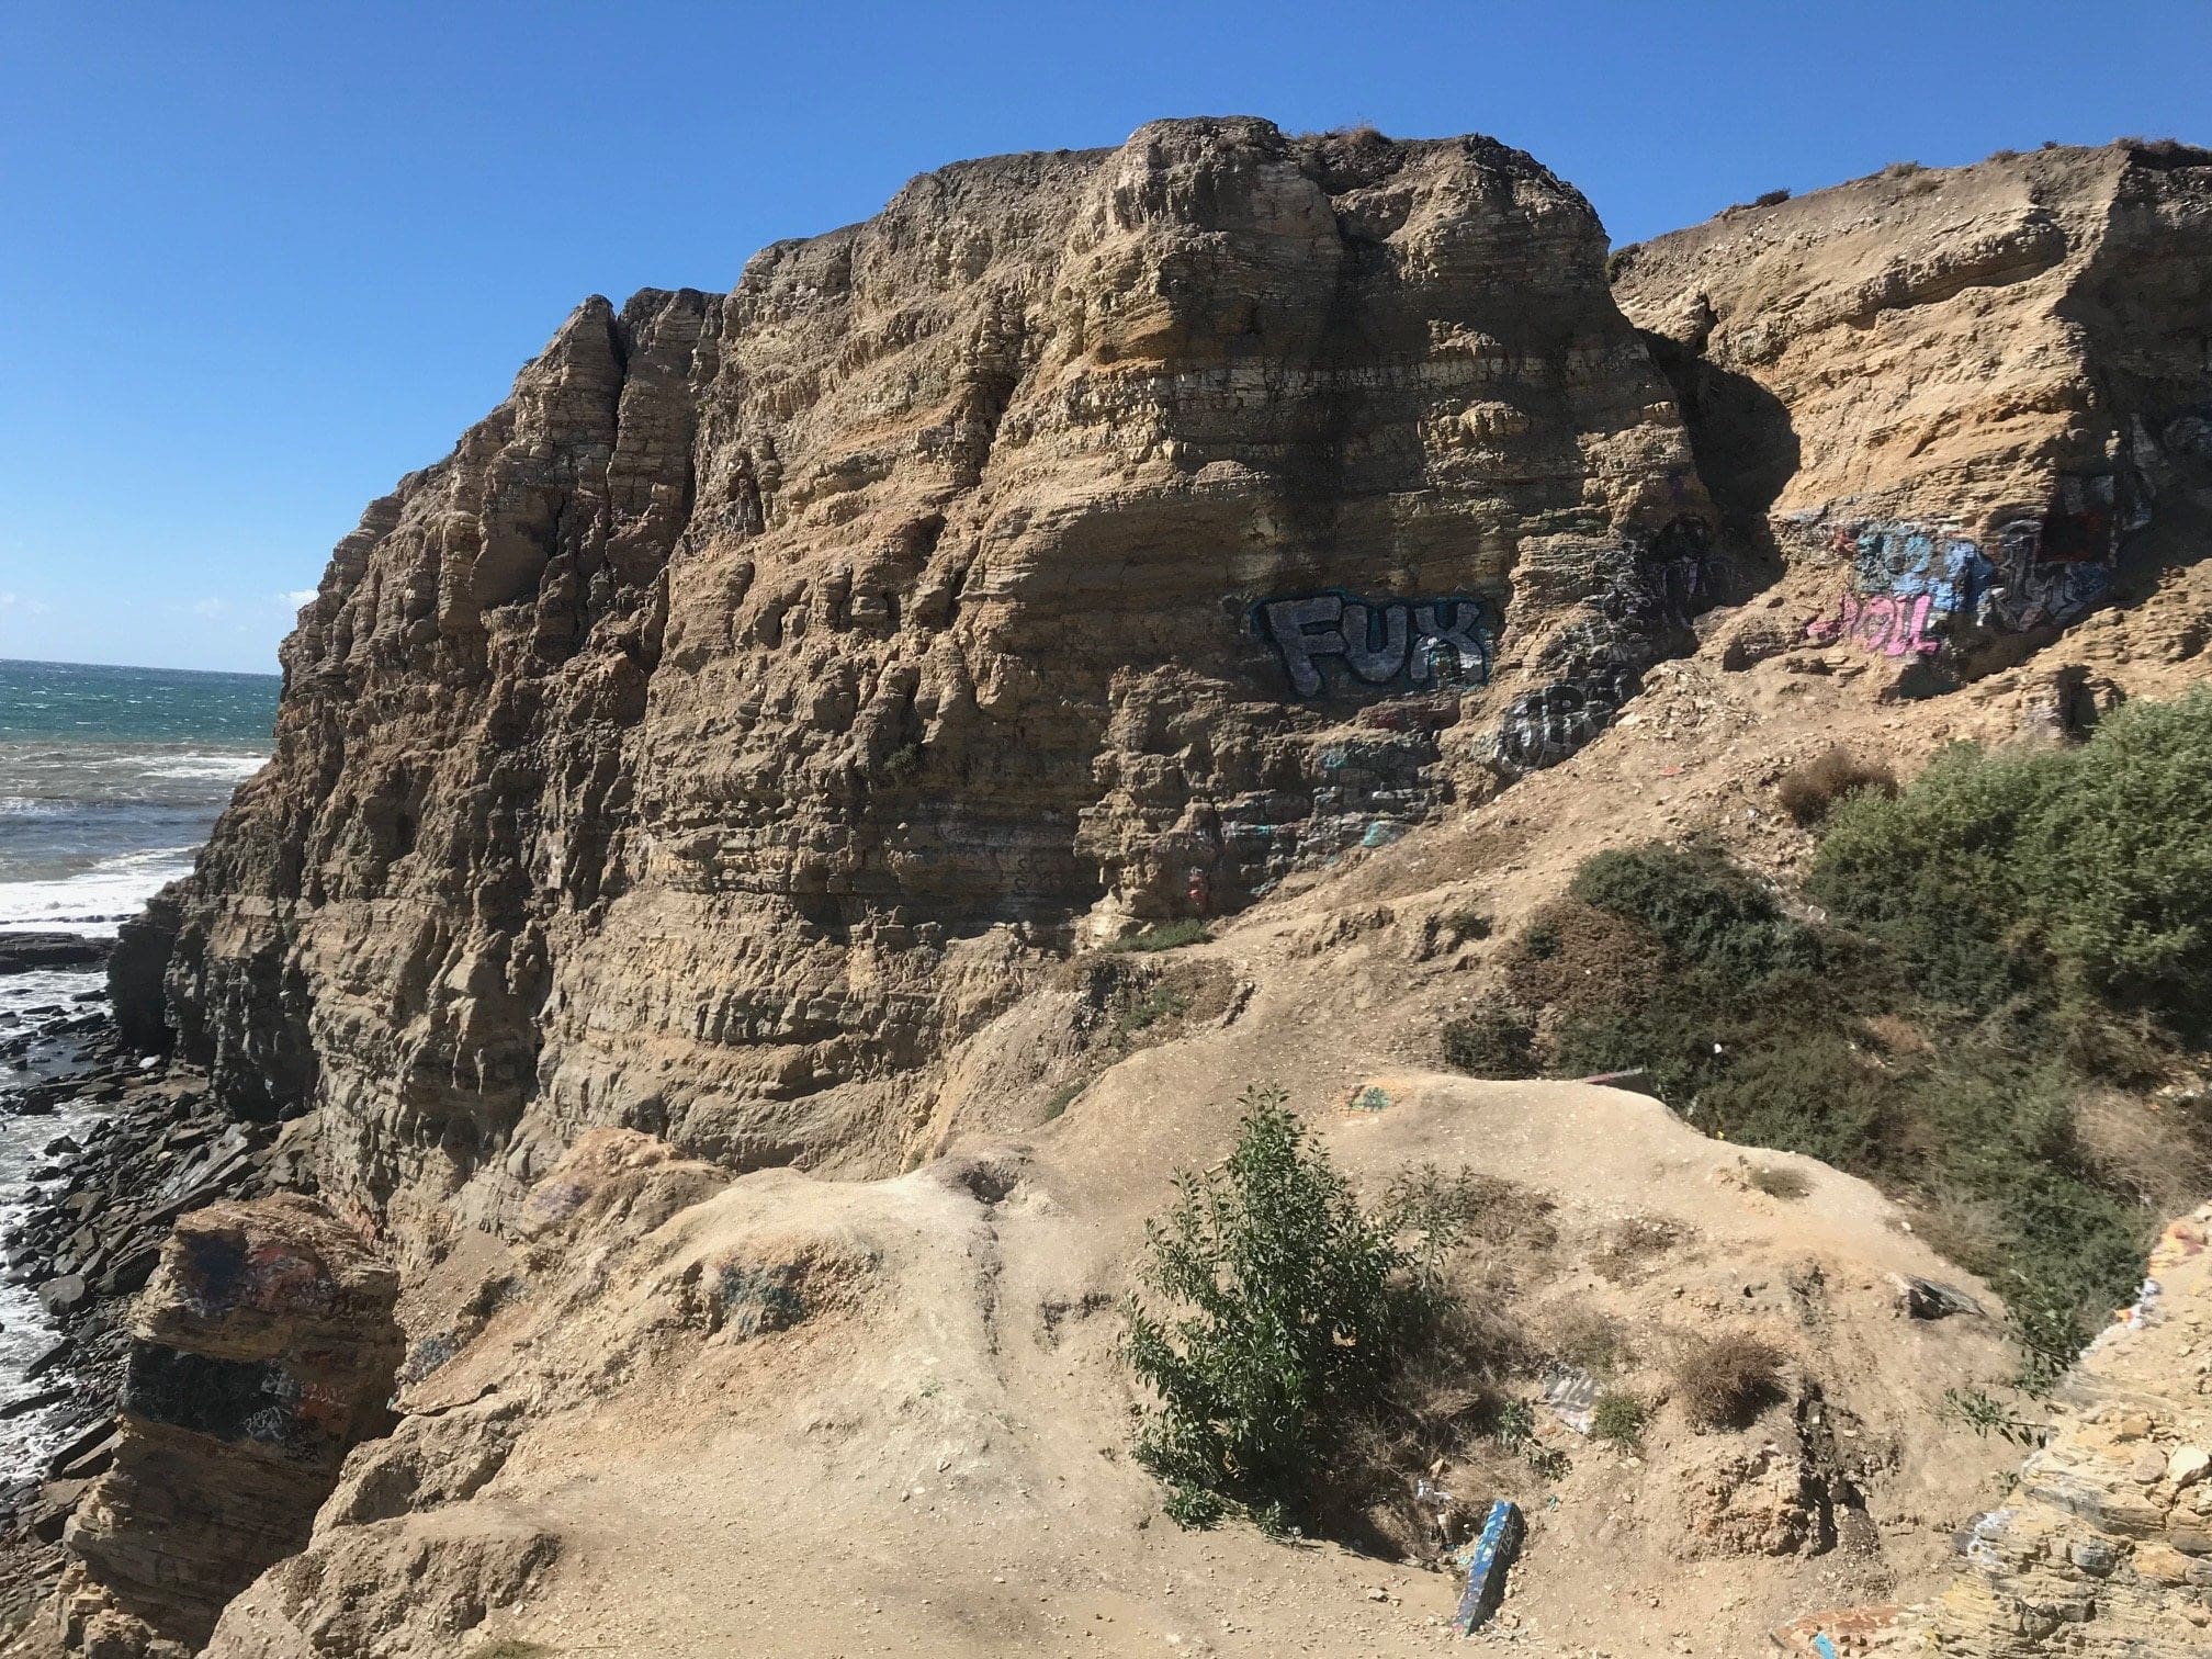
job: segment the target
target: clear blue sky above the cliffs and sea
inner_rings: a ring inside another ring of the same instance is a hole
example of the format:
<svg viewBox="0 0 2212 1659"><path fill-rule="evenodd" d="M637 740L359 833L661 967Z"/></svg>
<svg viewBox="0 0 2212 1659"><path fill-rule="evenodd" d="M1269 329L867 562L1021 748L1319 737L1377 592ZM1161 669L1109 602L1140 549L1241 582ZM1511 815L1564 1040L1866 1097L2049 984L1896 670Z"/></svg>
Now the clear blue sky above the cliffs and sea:
<svg viewBox="0 0 2212 1659"><path fill-rule="evenodd" d="M1493 133L1617 241L1887 161L2212 142L2212 4L0 7L0 657L274 668L577 299L728 288L1157 115Z"/></svg>

